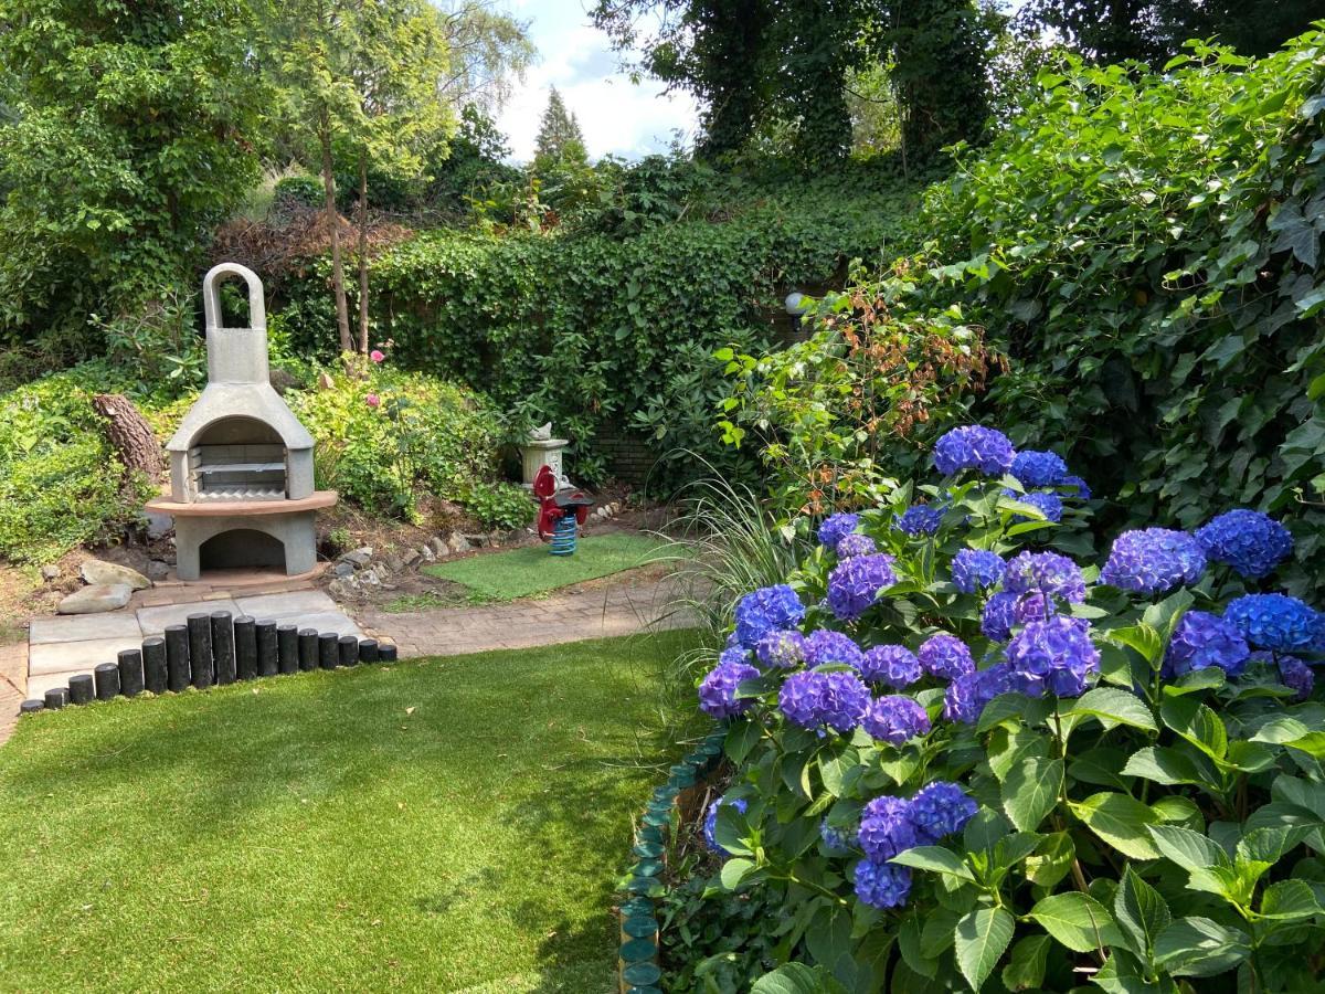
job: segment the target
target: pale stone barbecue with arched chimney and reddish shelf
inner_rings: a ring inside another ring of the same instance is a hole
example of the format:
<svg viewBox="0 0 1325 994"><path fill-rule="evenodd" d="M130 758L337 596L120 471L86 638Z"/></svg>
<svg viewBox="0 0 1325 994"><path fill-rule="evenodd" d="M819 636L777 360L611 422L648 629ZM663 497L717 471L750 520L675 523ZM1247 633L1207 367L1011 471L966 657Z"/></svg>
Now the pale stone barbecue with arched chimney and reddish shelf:
<svg viewBox="0 0 1325 994"><path fill-rule="evenodd" d="M249 326L225 327L220 282L248 289ZM262 281L223 262L203 278L207 388L166 443L170 496L147 508L175 520L176 573L276 567L294 577L317 563L314 517L337 501L313 489L313 436L273 390Z"/></svg>

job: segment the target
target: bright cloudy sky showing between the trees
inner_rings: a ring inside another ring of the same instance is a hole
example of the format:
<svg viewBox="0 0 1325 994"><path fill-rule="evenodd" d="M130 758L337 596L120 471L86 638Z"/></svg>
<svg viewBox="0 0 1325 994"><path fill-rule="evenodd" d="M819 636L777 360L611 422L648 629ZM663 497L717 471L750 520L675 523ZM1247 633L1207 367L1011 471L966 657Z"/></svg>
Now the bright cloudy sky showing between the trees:
<svg viewBox="0 0 1325 994"><path fill-rule="evenodd" d="M662 94L656 80L632 83L619 69L607 34L586 13L591 0L507 0L507 11L529 21L538 62L517 82L497 115L515 162L534 158L538 122L555 86L579 119L590 158L637 159L664 151L673 133L694 137L698 111L685 93Z"/></svg>

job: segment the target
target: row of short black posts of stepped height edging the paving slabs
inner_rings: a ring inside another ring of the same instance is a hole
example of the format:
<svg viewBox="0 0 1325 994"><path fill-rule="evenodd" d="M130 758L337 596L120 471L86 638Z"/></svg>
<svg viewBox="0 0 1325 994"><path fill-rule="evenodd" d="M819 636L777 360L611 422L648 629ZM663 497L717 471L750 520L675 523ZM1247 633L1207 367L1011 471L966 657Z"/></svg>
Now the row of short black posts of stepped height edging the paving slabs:
<svg viewBox="0 0 1325 994"><path fill-rule="evenodd" d="M53 687L44 698L24 701L19 713L136 697L143 690L205 690L237 680L396 660L396 647L390 643L299 628L289 622L233 618L229 611L192 614L186 620L167 626L164 635L143 639L139 649L123 649L118 661L73 676L68 687Z"/></svg>

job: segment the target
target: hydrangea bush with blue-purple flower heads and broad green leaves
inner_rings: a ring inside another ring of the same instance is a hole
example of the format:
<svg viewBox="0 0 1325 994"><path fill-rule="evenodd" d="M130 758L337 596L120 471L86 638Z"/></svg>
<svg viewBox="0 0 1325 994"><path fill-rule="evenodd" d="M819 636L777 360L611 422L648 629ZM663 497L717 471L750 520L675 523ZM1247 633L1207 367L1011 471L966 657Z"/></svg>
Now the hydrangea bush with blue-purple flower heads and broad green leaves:
<svg viewBox="0 0 1325 994"><path fill-rule="evenodd" d="M863 991L1318 989L1325 619L1273 590L1288 533L1216 508L1097 555L1053 452L973 425L934 464L828 517L700 688L735 769L706 812L716 885L782 907L765 967Z"/></svg>

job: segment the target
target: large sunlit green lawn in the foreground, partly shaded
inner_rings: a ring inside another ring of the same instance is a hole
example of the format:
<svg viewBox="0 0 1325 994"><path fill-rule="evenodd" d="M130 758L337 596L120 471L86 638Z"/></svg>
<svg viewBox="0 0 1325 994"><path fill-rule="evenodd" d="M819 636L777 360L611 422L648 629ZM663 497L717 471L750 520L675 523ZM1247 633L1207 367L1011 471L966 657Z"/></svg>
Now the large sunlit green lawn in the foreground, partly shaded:
<svg viewBox="0 0 1325 994"><path fill-rule="evenodd" d="M686 634L38 714L0 746L4 990L608 991Z"/></svg>

